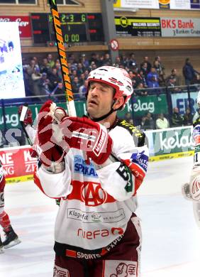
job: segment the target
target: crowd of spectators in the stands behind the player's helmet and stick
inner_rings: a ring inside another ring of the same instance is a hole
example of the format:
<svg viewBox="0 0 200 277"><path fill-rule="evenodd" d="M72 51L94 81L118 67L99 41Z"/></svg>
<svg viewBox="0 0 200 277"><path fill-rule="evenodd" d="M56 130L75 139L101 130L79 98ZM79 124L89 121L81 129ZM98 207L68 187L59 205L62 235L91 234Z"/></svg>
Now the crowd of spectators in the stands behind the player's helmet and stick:
<svg viewBox="0 0 200 277"><path fill-rule="evenodd" d="M135 96L145 97L150 94L156 94L159 97L163 87L168 87L171 92L182 92L179 87L182 85L182 76L177 73L176 68L172 68L171 74L166 76L165 65L163 65L160 56L155 57L152 63L149 57L145 56L141 63L138 63L135 54L130 53L117 57L115 63L112 64L109 53L104 55L92 53L90 58L87 58L84 53L80 54L79 58L71 53L67 57L67 62L75 100L85 99L89 72L102 65L113 65L126 69L133 82ZM30 60L23 58L23 75L26 96L40 97L41 95L49 95L54 97L55 95L55 99L57 96L60 100L65 99L60 60L58 58L54 59L52 54L48 54L43 60L38 60L36 57L30 58ZM189 58L185 60L182 75L185 85L199 84L200 82L199 72L194 70ZM194 118L198 116L198 111L194 115L191 114L188 108L184 116L182 116L179 114L179 109L175 107L170 119L166 118L164 114L155 116L147 112L138 124L143 129L165 129L169 126L190 125L193 116ZM128 114L127 121L133 123L130 114Z"/></svg>

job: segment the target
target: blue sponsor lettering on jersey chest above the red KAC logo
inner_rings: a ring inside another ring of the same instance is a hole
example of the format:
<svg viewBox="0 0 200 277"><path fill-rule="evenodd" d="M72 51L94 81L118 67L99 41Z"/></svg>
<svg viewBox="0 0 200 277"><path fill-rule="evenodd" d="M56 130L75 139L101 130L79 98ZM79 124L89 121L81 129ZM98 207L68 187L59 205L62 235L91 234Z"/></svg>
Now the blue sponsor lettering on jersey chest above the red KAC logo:
<svg viewBox="0 0 200 277"><path fill-rule="evenodd" d="M93 163L89 165L86 164L82 156L74 156L74 172L80 173L84 176L90 176L92 178L97 178L98 175L96 174L95 168Z"/></svg>

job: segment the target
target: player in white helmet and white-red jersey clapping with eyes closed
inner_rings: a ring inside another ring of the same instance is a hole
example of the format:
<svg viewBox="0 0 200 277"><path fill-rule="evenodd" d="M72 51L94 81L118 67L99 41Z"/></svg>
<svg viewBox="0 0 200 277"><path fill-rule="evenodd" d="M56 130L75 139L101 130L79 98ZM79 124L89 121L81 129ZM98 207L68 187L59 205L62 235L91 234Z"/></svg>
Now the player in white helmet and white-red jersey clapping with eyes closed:
<svg viewBox="0 0 200 277"><path fill-rule="evenodd" d="M138 277L136 192L148 148L145 134L116 116L133 93L132 82L126 70L110 66L91 71L88 81L88 118L64 116L54 126L52 102L38 114L35 184L49 197L61 197L53 276L119 276L126 269L126 276Z"/></svg>

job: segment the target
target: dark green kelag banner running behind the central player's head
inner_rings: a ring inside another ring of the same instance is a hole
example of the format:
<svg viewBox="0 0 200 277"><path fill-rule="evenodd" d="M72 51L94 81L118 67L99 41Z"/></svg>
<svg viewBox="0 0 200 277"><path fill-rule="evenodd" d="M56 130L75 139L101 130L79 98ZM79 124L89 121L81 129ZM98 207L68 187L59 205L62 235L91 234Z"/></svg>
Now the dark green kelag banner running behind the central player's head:
<svg viewBox="0 0 200 277"><path fill-rule="evenodd" d="M160 101L158 101L160 100ZM83 116L86 114L86 103L84 101L77 101L74 102L77 116ZM66 103L57 103L57 106L62 107L66 109ZM39 104L33 104L29 105L32 113L33 113L33 119L38 115L38 112L40 110L41 105ZM134 116L143 116L147 112L150 112L152 114L167 114L167 99L165 94L160 94L160 98L157 99L155 95L150 95L146 97L134 97L133 99L133 111ZM5 107L6 112L6 127L9 128L21 128L21 125L19 124L19 116L18 116L18 107ZM123 116L127 112L132 112L131 102L129 101L126 105L126 108L123 109L123 111L118 112L118 116L120 118L123 118ZM0 108L0 129L4 129L4 118L2 115L2 109Z"/></svg>

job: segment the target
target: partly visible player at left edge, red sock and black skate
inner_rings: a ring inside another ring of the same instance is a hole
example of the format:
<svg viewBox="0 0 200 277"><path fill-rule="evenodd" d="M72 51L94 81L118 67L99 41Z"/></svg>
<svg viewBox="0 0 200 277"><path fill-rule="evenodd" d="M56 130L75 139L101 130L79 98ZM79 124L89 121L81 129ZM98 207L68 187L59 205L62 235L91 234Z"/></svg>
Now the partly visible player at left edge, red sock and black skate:
<svg viewBox="0 0 200 277"><path fill-rule="evenodd" d="M4 211L4 188L6 185L6 180L4 176L4 170L0 163L0 225L4 230L5 240L1 241L0 236L0 253L3 252L3 249L9 248L16 244L19 244L21 241L18 239L18 235L13 231L11 227L11 222L9 215Z"/></svg>

